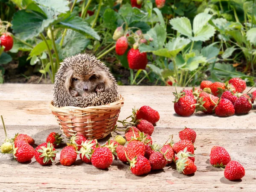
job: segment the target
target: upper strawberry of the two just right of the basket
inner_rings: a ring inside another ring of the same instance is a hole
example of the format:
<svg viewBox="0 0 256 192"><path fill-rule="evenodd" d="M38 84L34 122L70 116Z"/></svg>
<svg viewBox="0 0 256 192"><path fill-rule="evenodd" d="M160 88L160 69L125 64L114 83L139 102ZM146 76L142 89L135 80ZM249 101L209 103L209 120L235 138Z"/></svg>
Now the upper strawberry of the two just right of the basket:
<svg viewBox="0 0 256 192"><path fill-rule="evenodd" d="M151 122L153 125L157 123L160 119L158 111L152 109L149 106L142 106L139 110L133 111L136 114L136 119L144 119Z"/></svg>

